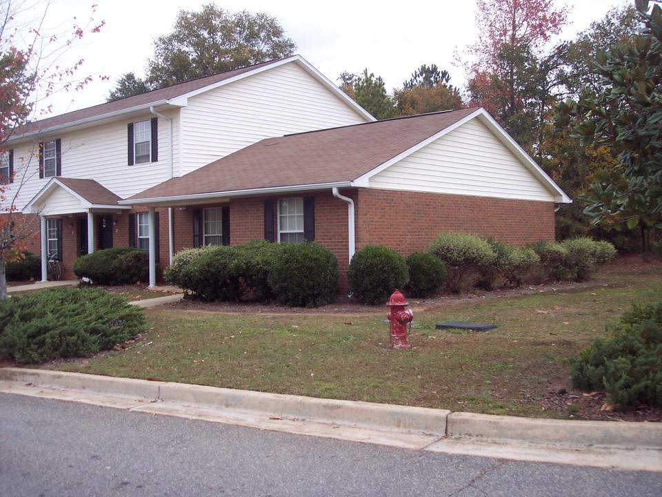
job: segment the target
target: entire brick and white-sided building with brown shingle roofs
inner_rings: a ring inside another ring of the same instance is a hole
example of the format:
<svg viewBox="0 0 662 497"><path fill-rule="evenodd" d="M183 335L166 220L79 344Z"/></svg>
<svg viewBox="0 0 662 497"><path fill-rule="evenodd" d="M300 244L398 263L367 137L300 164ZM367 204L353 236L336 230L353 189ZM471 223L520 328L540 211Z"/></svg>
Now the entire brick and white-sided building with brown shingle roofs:
<svg viewBox="0 0 662 497"><path fill-rule="evenodd" d="M8 146L43 279L46 253L73 277L81 254L138 246L153 285L183 248L264 238L327 246L344 283L367 244L553 240L570 202L485 110L374 121L299 56L37 121Z"/></svg>

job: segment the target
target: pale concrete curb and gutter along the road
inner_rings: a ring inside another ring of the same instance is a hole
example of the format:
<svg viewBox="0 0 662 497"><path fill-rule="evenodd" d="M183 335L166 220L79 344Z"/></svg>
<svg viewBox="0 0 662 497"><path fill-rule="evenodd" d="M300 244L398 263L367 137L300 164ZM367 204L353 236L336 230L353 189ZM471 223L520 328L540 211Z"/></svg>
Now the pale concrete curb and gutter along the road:
<svg viewBox="0 0 662 497"><path fill-rule="evenodd" d="M22 368L0 369L0 392L414 450L662 471L662 423L488 416Z"/></svg>

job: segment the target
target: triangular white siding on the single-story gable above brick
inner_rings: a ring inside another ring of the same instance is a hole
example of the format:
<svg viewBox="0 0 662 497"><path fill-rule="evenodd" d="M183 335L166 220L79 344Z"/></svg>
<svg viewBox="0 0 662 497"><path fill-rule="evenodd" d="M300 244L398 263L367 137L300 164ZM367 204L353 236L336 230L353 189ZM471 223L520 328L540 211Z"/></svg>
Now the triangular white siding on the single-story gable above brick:
<svg viewBox="0 0 662 497"><path fill-rule="evenodd" d="M370 188L554 202L554 195L473 119L370 178Z"/></svg>

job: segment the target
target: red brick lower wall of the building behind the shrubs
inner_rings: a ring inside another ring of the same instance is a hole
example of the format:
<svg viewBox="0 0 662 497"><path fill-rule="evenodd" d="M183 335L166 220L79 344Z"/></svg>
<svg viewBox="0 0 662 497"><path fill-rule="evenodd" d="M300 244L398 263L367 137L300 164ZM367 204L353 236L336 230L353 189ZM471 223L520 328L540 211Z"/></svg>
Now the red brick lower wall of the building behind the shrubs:
<svg viewBox="0 0 662 497"><path fill-rule="evenodd" d="M492 236L510 244L554 240L554 204L522 200L463 197L433 193L346 189L342 195L354 199L357 246L389 246L402 255L423 251L439 231L465 231ZM346 290L348 260L348 206L330 191L307 193L315 197L315 238L338 259L341 290ZM230 201L230 244L264 237L264 201L274 201L274 233L277 229L276 200L284 196L239 198ZM219 207L205 204L173 208L174 253L193 246L194 208ZM130 213L146 212L138 208ZM168 253L168 209L159 208L159 263L157 282L163 283L163 269L170 263ZM128 246L128 212L114 213L113 246ZM63 217L62 277L73 279L77 258L77 218ZM72 224L72 226L69 226ZM37 225L38 227L38 225ZM98 237L94 240L98 247ZM28 240L28 250L41 253L39 235Z"/></svg>

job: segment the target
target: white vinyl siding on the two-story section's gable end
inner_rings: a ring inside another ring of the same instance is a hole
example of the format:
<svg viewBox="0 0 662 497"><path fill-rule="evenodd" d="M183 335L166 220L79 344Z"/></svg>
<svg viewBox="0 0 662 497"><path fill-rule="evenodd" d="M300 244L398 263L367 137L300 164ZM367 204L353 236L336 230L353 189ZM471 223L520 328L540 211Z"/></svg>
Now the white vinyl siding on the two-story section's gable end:
<svg viewBox="0 0 662 497"><path fill-rule="evenodd" d="M267 137L367 119L303 68L285 64L191 97L182 121L185 174Z"/></svg>

